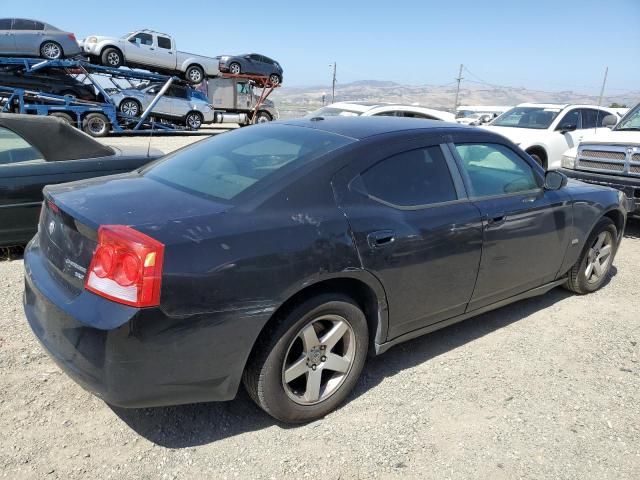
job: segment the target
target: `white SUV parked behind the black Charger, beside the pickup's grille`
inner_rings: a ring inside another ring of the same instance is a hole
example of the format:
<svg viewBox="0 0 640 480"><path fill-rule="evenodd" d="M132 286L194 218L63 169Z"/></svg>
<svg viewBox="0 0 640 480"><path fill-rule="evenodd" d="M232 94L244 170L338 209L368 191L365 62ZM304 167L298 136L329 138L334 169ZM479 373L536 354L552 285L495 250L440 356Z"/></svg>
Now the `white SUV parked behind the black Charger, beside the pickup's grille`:
<svg viewBox="0 0 640 480"><path fill-rule="evenodd" d="M556 169L562 154L577 146L586 133L609 132L606 127L611 125L611 115L615 124L619 117L610 108L523 103L482 128L507 137L545 169Z"/></svg>

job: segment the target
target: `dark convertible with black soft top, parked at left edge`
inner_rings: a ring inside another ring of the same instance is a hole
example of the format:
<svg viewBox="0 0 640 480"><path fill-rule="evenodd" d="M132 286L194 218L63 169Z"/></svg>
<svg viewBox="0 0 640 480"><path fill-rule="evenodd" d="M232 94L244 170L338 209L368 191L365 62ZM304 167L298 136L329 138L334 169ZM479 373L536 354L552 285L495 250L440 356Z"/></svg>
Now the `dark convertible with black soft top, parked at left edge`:
<svg viewBox="0 0 640 480"><path fill-rule="evenodd" d="M45 185L128 172L160 154L103 145L58 118L0 114L0 246L36 233Z"/></svg>

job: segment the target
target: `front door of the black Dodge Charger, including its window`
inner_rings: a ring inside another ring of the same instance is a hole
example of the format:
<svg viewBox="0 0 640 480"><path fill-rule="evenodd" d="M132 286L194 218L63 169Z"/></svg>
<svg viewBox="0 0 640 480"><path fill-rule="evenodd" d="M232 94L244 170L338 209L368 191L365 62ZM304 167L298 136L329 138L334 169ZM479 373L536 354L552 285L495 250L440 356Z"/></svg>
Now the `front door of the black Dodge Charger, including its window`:
<svg viewBox="0 0 640 480"><path fill-rule="evenodd" d="M468 311L554 280L569 241L568 195L546 191L533 161L506 144L450 148L482 214L482 261Z"/></svg>

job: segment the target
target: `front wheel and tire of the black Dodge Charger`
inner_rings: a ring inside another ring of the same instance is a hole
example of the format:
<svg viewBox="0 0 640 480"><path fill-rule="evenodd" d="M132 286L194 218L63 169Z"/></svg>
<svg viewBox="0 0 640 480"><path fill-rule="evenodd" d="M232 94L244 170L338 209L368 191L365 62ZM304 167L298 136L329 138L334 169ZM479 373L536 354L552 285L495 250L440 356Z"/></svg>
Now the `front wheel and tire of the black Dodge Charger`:
<svg viewBox="0 0 640 480"><path fill-rule="evenodd" d="M604 217L593 228L564 287L579 295L595 292L609 279L618 248L618 230Z"/></svg>

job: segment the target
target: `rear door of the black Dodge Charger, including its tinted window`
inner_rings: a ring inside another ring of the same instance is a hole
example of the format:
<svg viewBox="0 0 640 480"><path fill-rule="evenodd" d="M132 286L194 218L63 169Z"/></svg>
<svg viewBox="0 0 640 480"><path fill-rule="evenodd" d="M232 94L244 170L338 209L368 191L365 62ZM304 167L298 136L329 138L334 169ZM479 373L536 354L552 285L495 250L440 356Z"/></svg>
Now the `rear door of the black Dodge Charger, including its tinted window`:
<svg viewBox="0 0 640 480"><path fill-rule="evenodd" d="M388 339L465 311L480 262L480 213L446 147L414 139L372 148L334 188L364 268L384 285Z"/></svg>

